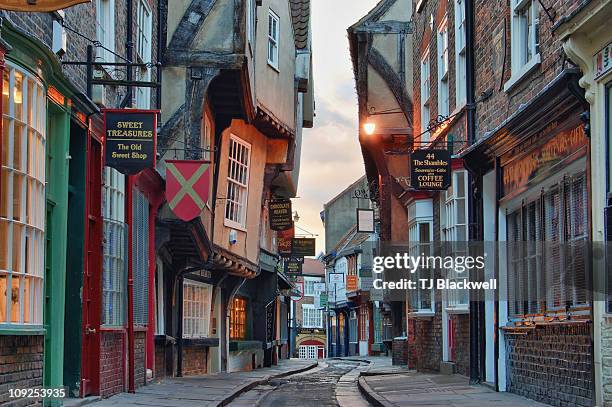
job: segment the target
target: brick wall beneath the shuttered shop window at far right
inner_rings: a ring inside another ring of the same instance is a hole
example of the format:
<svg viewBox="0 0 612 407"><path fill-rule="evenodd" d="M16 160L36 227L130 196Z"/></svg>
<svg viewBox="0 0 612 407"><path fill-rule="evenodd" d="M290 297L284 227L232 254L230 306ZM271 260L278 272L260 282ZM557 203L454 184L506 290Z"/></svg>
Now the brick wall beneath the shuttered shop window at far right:
<svg viewBox="0 0 612 407"><path fill-rule="evenodd" d="M506 335L508 391L554 406L592 406L590 325Z"/></svg>

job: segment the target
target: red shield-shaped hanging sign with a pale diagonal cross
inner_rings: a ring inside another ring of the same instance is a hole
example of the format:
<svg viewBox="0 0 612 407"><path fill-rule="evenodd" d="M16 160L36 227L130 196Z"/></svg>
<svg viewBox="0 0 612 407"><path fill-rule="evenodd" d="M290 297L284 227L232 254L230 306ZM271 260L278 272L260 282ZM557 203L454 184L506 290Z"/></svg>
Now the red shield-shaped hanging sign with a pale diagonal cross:
<svg viewBox="0 0 612 407"><path fill-rule="evenodd" d="M200 216L210 191L210 161L166 160L166 200L172 212L189 222Z"/></svg>

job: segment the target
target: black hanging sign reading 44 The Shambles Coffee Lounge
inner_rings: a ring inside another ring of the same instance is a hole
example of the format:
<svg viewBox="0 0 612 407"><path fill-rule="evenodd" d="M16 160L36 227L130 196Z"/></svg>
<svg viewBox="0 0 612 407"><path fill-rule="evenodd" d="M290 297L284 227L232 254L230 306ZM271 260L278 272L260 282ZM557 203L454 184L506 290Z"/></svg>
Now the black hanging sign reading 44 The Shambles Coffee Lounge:
<svg viewBox="0 0 612 407"><path fill-rule="evenodd" d="M451 184L451 154L448 150L415 150L410 155L410 182L420 191L443 191Z"/></svg>

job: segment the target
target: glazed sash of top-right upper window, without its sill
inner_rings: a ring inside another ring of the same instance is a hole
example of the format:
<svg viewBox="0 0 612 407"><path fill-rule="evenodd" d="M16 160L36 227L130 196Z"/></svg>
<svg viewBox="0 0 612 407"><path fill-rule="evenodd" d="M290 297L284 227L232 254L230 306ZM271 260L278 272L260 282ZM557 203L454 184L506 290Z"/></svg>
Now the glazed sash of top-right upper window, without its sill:
<svg viewBox="0 0 612 407"><path fill-rule="evenodd" d="M539 54L538 0L511 0L512 4L512 74L532 65Z"/></svg>

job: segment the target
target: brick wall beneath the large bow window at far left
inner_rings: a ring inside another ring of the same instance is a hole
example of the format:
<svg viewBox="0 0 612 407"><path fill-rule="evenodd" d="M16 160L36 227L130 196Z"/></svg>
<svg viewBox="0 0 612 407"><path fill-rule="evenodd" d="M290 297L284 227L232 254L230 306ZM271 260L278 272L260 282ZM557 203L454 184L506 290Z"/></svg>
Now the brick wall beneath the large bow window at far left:
<svg viewBox="0 0 612 407"><path fill-rule="evenodd" d="M43 336L0 336L0 404L11 401L9 389L43 384ZM13 401L11 406L37 405L34 399Z"/></svg>

